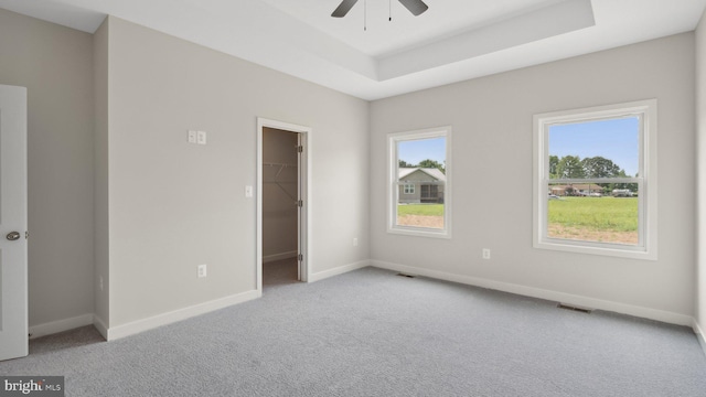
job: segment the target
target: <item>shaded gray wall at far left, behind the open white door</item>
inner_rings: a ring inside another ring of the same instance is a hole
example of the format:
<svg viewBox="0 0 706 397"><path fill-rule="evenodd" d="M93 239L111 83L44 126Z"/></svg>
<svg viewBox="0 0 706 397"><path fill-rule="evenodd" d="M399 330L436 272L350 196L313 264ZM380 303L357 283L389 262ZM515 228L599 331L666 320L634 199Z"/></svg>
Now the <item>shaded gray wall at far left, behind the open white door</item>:
<svg viewBox="0 0 706 397"><path fill-rule="evenodd" d="M93 36L0 9L0 84L28 87L30 326L93 313Z"/></svg>

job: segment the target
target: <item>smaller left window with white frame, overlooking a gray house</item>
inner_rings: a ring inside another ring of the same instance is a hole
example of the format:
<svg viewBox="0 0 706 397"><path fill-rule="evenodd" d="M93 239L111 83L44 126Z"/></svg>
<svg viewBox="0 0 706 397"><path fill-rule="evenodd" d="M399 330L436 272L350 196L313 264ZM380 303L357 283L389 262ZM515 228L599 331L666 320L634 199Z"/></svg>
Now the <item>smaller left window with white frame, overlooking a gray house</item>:
<svg viewBox="0 0 706 397"><path fill-rule="evenodd" d="M389 233L450 237L451 128L388 135Z"/></svg>

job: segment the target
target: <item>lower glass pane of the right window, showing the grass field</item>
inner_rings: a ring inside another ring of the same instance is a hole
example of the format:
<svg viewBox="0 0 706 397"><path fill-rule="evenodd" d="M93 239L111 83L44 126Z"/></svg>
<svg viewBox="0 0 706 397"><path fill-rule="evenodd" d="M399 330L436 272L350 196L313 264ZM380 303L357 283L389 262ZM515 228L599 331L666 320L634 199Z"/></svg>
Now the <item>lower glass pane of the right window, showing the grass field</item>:
<svg viewBox="0 0 706 397"><path fill-rule="evenodd" d="M547 237L638 245L637 184L549 184Z"/></svg>

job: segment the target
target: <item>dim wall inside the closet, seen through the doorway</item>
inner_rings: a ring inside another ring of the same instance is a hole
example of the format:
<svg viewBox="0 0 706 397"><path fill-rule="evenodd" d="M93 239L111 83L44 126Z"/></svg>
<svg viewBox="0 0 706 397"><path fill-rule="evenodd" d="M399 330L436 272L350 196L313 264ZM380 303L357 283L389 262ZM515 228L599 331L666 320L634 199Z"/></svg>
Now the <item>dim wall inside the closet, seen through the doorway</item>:
<svg viewBox="0 0 706 397"><path fill-rule="evenodd" d="M298 140L297 133L275 128L263 132L263 261L269 261L298 251Z"/></svg>

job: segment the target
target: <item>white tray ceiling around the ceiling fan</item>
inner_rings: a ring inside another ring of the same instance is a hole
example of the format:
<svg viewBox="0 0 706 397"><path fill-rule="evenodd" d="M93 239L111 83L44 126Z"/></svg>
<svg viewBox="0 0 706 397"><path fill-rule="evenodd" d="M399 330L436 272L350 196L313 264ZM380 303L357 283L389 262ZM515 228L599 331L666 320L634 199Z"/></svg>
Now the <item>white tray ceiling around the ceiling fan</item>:
<svg viewBox="0 0 706 397"><path fill-rule="evenodd" d="M692 31L706 7L706 0L424 0L429 10L414 17L397 0L359 0L345 18L331 18L340 1L0 0L0 8L89 33L111 14L378 99Z"/></svg>

